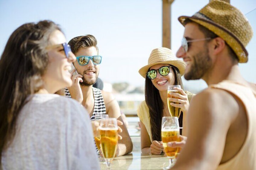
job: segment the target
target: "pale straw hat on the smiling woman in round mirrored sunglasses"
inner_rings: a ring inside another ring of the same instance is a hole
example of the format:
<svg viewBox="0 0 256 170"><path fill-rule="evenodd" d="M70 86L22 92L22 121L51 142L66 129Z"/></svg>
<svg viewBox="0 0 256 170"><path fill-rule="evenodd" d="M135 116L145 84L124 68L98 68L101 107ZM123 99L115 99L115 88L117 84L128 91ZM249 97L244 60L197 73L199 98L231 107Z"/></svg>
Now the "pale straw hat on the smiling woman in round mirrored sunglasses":
<svg viewBox="0 0 256 170"><path fill-rule="evenodd" d="M146 78L146 74L149 68L156 64L170 64L172 66L175 66L179 69L181 76L184 75L187 66L184 61L177 60L172 50L170 50L169 48L160 47L152 50L149 56L148 65L139 69L139 74L142 77Z"/></svg>

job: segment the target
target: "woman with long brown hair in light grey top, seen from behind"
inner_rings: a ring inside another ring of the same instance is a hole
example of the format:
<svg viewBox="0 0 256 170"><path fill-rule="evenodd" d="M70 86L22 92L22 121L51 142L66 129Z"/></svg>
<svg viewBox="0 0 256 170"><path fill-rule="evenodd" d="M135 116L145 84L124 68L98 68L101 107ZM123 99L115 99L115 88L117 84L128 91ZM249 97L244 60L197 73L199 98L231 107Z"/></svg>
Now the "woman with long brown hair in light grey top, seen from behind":
<svg viewBox="0 0 256 170"><path fill-rule="evenodd" d="M75 56L52 21L26 23L0 60L0 169L99 169L86 110L56 91Z"/></svg>

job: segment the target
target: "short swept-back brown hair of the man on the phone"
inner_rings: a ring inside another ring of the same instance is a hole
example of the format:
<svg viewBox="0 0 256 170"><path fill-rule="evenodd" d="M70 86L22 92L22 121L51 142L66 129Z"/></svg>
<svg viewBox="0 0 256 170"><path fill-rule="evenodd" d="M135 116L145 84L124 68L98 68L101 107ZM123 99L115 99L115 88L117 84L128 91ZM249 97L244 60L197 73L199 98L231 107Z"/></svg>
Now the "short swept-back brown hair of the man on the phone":
<svg viewBox="0 0 256 170"><path fill-rule="evenodd" d="M72 53L74 53L75 55L77 51L82 47L84 48L95 47L97 49L97 52L99 53L99 49L97 47L97 40L92 35L78 36L78 37L72 38L68 44L71 47Z"/></svg>

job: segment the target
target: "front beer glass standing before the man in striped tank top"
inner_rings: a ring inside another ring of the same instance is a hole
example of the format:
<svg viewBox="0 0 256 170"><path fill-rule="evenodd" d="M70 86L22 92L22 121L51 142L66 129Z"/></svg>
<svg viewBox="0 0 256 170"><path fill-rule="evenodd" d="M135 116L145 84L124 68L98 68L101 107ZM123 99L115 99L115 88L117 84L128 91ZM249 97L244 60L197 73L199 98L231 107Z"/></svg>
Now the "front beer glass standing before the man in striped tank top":
<svg viewBox="0 0 256 170"><path fill-rule="evenodd" d="M110 168L110 161L114 159L117 151L118 126L116 118L101 119L100 123L100 141L101 152L107 168Z"/></svg>

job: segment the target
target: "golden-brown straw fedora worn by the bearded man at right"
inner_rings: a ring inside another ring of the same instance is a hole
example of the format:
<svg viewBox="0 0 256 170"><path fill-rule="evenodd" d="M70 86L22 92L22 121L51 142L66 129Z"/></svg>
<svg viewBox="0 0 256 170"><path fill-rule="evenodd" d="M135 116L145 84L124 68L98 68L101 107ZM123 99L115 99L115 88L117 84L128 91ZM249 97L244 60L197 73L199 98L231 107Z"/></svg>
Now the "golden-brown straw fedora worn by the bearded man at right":
<svg viewBox="0 0 256 170"><path fill-rule="evenodd" d="M192 17L181 16L178 20L183 26L186 20L192 20L206 27L225 40L237 55L239 63L248 61L245 46L253 35L251 25L240 10L228 2L212 0Z"/></svg>

